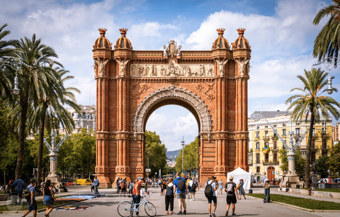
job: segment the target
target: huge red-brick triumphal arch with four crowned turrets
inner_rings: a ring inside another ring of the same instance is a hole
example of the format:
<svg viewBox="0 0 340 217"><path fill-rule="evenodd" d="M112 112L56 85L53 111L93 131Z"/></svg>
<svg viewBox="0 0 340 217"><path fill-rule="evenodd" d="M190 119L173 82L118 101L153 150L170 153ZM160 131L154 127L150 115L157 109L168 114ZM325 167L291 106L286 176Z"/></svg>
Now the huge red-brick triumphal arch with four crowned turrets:
<svg viewBox="0 0 340 217"><path fill-rule="evenodd" d="M185 50L174 40L163 50L133 50L121 28L115 44L93 46L97 131L95 173L100 186L116 177L145 174L145 125L160 106L176 104L196 118L199 177L226 180L238 166L248 170L247 80L250 45L244 28L229 45L217 29L211 50ZM184 48L184 47L183 47ZM179 142L179 141L178 141ZM112 184L113 182L113 184ZM204 181L203 181L204 182Z"/></svg>

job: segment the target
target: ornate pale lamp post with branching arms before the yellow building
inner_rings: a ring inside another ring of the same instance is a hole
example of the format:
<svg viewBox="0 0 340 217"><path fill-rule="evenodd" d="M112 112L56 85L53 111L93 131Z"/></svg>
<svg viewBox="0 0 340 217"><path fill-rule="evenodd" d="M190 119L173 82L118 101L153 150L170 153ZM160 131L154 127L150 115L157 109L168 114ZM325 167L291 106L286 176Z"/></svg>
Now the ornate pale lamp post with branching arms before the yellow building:
<svg viewBox="0 0 340 217"><path fill-rule="evenodd" d="M304 182L299 180L298 175L295 172L295 151L296 151L297 147L299 146L299 144L301 143L305 134L308 132L309 128L306 128L305 132L302 134L301 137L299 137L298 141L295 144L293 144L294 143L294 141L293 141L294 132L292 131L291 120L290 120L290 131L288 133L289 134L289 144L287 144L285 142L285 140L278 134L277 130L268 122L267 119L265 119L265 117L262 114L256 113L250 118L254 119L255 121L258 121L259 119L263 118L268 123L268 125L272 128L274 133L277 135L277 137L280 139L281 143L284 145L284 147L287 150L288 173L284 177L283 181L281 181L279 183L279 186L281 188L282 187L296 187L296 184L299 184L300 187L303 187Z"/></svg>

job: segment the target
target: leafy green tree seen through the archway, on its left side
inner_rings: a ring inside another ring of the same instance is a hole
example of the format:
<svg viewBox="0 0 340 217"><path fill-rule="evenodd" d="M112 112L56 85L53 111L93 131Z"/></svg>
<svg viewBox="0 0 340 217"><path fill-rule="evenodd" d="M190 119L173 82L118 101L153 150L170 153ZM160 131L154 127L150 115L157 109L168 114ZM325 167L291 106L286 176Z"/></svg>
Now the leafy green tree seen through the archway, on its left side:
<svg viewBox="0 0 340 217"><path fill-rule="evenodd" d="M151 132L145 130L145 162L147 164L147 152L148 154L148 163L150 168L150 174L158 173L158 170L165 172L166 166L166 147L165 144L161 143L159 135L156 134L155 131Z"/></svg>

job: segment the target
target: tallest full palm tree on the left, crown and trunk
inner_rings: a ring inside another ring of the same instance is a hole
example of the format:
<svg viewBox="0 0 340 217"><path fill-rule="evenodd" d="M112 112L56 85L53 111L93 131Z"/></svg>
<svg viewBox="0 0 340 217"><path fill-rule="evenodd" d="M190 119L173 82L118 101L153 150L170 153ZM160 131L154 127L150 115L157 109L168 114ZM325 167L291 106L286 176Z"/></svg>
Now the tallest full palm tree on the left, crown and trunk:
<svg viewBox="0 0 340 217"><path fill-rule="evenodd" d="M15 110L14 107L16 107L17 111L19 110L19 121L16 121L19 128L19 148L15 168L15 178L19 178L22 169L24 139L27 131L30 130L26 130L28 107L32 104L38 104L39 98L47 98L48 82L55 81L59 83L58 77L54 73L49 73L49 66L52 64L62 65L52 59L53 57L57 58L54 50L49 46L41 44L41 38L36 39L35 34L33 34L32 39L27 37L21 38L16 45L16 49L17 57L24 62L21 70L18 71L21 91L14 98L14 101L18 101L18 103L12 103L13 110Z"/></svg>

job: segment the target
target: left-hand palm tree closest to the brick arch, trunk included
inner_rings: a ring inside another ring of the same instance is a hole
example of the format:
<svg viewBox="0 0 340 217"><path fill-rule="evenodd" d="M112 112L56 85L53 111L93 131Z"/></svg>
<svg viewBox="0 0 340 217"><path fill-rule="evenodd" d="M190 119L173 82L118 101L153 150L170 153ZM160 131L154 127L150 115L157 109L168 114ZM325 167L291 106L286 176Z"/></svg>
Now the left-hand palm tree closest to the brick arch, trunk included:
<svg viewBox="0 0 340 217"><path fill-rule="evenodd" d="M78 113L81 113L79 105L75 103L73 91L80 93L75 87L64 87L64 81L74 78L73 76L64 76L69 71L62 68L48 68L49 73L55 73L55 80L47 81L47 98L39 98L38 104L31 109L30 117L32 117L32 127L39 128L39 147L37 159L37 181L41 181L41 161L42 161L42 148L43 148L43 135L44 128L50 132L52 129L59 128L59 122L62 127L67 131L71 130L74 126L74 121L67 109L63 105L73 107ZM53 82L51 82L53 81ZM58 83L55 81L59 81Z"/></svg>

